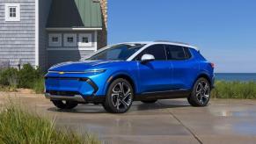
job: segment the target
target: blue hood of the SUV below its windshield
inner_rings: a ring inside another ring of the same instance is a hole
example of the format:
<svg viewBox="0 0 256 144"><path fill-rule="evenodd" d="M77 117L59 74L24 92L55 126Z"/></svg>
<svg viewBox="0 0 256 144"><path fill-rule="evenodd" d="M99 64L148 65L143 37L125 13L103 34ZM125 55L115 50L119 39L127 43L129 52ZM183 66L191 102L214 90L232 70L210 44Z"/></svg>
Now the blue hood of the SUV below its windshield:
<svg viewBox="0 0 256 144"><path fill-rule="evenodd" d="M69 61L56 64L49 68L49 71L82 72L86 69L96 68L99 65L113 61Z"/></svg>

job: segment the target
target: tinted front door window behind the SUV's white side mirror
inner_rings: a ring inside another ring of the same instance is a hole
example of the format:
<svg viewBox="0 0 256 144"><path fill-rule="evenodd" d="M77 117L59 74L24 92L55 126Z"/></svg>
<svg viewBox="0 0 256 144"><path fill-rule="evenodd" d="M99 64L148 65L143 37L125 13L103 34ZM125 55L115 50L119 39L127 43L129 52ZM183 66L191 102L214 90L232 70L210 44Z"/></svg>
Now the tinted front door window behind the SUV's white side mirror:
<svg viewBox="0 0 256 144"><path fill-rule="evenodd" d="M136 61L141 61L143 54L152 54L154 55L156 61L163 61L166 60L165 54L165 46L164 45L153 45L147 47L141 54L135 57Z"/></svg>

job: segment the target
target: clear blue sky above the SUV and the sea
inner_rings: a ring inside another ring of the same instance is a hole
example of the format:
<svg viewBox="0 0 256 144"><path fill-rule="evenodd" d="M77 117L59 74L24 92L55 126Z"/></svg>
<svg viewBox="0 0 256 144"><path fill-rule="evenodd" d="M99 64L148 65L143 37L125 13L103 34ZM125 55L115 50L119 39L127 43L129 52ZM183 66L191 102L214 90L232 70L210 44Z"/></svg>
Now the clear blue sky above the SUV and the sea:
<svg viewBox="0 0 256 144"><path fill-rule="evenodd" d="M255 0L109 0L108 43L183 41L216 72L256 72Z"/></svg>

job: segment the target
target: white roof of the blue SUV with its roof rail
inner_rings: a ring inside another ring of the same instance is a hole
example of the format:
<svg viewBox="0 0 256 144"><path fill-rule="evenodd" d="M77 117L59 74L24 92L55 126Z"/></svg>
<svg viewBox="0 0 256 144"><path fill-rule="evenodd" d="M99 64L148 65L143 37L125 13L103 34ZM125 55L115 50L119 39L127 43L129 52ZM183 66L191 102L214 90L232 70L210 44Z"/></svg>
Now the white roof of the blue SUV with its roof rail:
<svg viewBox="0 0 256 144"><path fill-rule="evenodd" d="M163 45L174 45L180 47L190 47L195 50L199 50L198 47L191 46L187 43L177 42L177 41L166 41L166 40L157 40L157 41L134 41L134 42L123 42L119 44L142 44L142 45L153 45L153 44L163 44Z"/></svg>

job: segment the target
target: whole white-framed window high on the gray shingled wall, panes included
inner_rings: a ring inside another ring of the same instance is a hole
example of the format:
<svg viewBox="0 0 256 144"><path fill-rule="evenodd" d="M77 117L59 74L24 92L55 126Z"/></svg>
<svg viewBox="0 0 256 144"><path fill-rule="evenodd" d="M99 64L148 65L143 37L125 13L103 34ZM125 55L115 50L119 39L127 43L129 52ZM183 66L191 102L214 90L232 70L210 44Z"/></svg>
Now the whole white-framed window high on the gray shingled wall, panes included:
<svg viewBox="0 0 256 144"><path fill-rule="evenodd" d="M20 21L19 4L5 4L5 21Z"/></svg>

